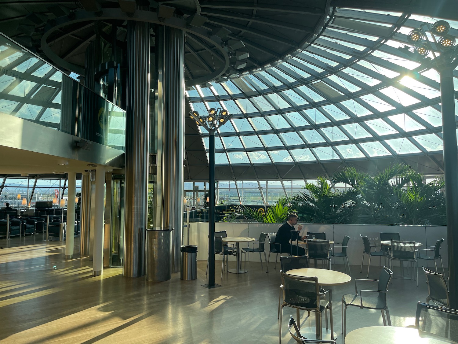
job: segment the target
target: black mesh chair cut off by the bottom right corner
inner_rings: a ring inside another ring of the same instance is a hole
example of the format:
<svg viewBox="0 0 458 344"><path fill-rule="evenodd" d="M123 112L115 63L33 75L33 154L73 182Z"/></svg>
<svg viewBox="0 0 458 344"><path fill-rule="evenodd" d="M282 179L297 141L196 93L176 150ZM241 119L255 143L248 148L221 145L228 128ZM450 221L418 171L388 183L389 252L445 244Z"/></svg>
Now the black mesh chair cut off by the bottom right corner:
<svg viewBox="0 0 458 344"><path fill-rule="evenodd" d="M419 302L415 315L415 327L420 337L447 338L447 343L457 343L458 311Z"/></svg>

